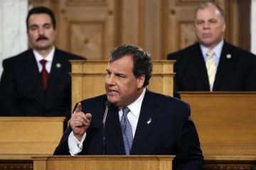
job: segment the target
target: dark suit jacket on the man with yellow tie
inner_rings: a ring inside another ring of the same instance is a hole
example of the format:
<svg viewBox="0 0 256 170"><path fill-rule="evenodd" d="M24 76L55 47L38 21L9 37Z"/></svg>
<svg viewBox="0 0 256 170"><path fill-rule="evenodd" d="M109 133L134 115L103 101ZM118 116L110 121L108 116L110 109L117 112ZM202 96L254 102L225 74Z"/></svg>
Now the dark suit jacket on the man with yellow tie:
<svg viewBox="0 0 256 170"><path fill-rule="evenodd" d="M176 60L174 96L177 91L210 91L199 43L169 54L168 60ZM213 91L256 91L255 55L224 41Z"/></svg>

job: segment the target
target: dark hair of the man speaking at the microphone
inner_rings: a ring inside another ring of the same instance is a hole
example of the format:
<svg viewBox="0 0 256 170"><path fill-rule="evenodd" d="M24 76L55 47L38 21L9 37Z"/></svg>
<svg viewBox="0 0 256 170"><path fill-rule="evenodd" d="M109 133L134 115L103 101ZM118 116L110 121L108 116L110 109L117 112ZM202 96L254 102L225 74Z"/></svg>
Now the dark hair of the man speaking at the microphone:
<svg viewBox="0 0 256 170"><path fill-rule="evenodd" d="M109 62L114 62L114 60L122 58L124 55L132 55L134 62L133 74L135 77L139 77L144 74L145 81L143 86L147 86L152 72L150 55L147 52L144 52L142 48L135 45L120 45L111 52Z"/></svg>

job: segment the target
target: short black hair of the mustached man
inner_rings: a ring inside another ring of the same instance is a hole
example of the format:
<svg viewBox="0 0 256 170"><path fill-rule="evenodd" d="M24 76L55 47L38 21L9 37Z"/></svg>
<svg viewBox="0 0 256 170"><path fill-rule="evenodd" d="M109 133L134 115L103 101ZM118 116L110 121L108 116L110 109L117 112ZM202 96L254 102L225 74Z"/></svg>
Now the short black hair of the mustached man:
<svg viewBox="0 0 256 170"><path fill-rule="evenodd" d="M28 11L28 16L26 18L27 31L28 31L28 18L31 15L35 14L35 13L46 13L46 14L48 14L48 16L50 16L50 19L53 23L53 28L54 29L56 28L56 21L55 21L53 11L51 11L50 8L47 8L45 6L38 6L38 7L35 7L35 8L31 8L31 10Z"/></svg>

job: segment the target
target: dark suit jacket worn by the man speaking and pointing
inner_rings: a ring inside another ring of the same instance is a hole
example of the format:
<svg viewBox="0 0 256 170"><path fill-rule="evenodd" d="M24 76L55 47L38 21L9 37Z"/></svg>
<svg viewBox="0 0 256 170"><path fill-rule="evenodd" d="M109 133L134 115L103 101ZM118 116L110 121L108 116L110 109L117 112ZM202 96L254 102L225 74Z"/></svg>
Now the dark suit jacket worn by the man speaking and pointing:
<svg viewBox="0 0 256 170"><path fill-rule="evenodd" d="M82 111L92 114L80 154L102 154L102 119L105 113L105 95L82 101ZM147 121L151 118L151 123ZM65 131L54 154L70 154ZM125 154L119 123L118 108L110 106L105 124L106 154ZM198 134L190 118L190 108L182 101L146 91L142 102L131 154L176 155L174 168L199 170L203 155Z"/></svg>

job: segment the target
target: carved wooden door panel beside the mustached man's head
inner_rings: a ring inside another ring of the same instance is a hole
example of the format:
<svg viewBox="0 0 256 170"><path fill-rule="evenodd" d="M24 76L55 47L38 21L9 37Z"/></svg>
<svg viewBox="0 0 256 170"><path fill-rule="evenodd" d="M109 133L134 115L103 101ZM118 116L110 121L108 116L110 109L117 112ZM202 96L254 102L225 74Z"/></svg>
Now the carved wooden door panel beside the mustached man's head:
<svg viewBox="0 0 256 170"><path fill-rule="evenodd" d="M116 47L115 0L47 0L57 21L57 47L92 60L104 60ZM34 1L35 6L43 5ZM116 15L117 16L117 15Z"/></svg>

